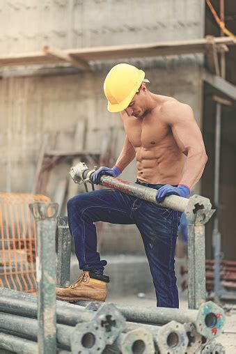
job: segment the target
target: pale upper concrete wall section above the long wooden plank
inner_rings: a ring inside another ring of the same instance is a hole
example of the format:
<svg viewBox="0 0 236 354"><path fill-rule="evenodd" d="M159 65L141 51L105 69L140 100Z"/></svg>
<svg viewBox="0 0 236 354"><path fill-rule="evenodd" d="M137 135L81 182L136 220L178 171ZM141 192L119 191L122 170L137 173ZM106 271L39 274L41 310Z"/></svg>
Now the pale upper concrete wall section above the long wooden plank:
<svg viewBox="0 0 236 354"><path fill-rule="evenodd" d="M0 55L203 36L204 0L6 0Z"/></svg>

